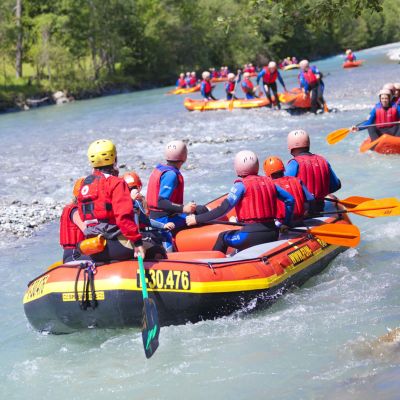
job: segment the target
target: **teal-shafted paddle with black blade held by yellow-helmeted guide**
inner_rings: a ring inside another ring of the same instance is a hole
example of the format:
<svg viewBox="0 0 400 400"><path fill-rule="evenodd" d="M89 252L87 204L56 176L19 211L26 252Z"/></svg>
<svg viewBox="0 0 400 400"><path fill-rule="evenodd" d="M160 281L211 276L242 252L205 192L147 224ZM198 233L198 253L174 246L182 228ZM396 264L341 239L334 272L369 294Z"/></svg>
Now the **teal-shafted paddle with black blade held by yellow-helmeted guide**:
<svg viewBox="0 0 400 400"><path fill-rule="evenodd" d="M146 358L150 358L158 347L158 335L160 334L160 325L158 323L158 312L156 303L149 299L147 294L146 278L144 274L144 265L142 256L138 256L140 283L143 295L143 320L142 320L142 339L144 353Z"/></svg>

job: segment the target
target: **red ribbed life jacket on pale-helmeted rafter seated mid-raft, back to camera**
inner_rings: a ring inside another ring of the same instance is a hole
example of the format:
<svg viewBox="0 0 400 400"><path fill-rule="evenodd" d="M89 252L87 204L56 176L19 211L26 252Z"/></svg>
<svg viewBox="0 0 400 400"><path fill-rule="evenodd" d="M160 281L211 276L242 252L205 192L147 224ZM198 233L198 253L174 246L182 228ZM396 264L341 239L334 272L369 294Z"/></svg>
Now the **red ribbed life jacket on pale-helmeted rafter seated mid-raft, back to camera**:
<svg viewBox="0 0 400 400"><path fill-rule="evenodd" d="M236 182L242 182L246 189L235 206L240 222L270 222L276 218L278 198L271 178L249 175L237 179Z"/></svg>

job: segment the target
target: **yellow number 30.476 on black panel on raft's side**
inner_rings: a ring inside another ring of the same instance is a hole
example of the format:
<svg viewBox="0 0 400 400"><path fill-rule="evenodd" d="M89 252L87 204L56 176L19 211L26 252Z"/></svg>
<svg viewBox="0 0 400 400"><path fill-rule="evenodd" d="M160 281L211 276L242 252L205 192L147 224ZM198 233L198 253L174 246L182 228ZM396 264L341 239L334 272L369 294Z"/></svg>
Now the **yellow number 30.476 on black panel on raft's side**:
<svg viewBox="0 0 400 400"><path fill-rule="evenodd" d="M189 271L150 269L146 270L145 274L148 289L190 290ZM137 270L136 283L138 288L142 287L139 270Z"/></svg>

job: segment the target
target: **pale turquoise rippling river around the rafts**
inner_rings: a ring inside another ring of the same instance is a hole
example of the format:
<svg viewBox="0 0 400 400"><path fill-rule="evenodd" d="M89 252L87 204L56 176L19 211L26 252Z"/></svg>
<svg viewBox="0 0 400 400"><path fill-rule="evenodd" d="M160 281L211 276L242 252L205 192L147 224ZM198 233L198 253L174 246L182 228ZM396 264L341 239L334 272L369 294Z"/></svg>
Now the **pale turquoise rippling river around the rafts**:
<svg viewBox="0 0 400 400"><path fill-rule="evenodd" d="M400 81L388 52L400 43L357 52L366 63L343 70L342 58L317 63L326 101L336 113L290 116L285 111L189 113L167 89L123 94L0 116L0 195L13 200L68 201L73 181L90 172L86 151L110 138L119 164L147 181L171 139L188 139L183 170L187 200L224 193L234 179L235 152L288 160L286 135L304 128L342 180L339 196L399 196L400 156L360 154L366 133L329 146L326 135L363 121L388 81ZM296 72L284 73L288 87ZM222 85L216 91L222 97ZM194 95L192 97L198 97ZM125 171L126 169L121 169ZM375 345L400 326L399 219L354 217L357 249L273 307L161 329L146 360L136 329L43 335L23 311L26 284L61 255L58 227L0 246L1 399L398 399L400 344Z"/></svg>

